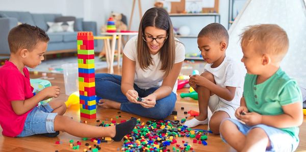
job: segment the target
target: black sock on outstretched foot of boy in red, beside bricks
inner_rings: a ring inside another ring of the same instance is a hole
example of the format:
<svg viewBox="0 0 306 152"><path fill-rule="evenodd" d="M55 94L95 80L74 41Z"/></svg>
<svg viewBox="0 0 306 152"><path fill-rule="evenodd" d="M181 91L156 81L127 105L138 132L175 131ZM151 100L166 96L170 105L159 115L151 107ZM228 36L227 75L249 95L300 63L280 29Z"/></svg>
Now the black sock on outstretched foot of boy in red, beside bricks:
<svg viewBox="0 0 306 152"><path fill-rule="evenodd" d="M114 141L121 141L121 139L132 132L136 126L137 119L132 118L129 121L116 125L116 135L113 138Z"/></svg>

